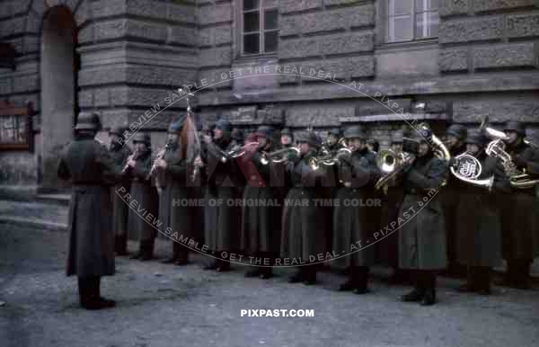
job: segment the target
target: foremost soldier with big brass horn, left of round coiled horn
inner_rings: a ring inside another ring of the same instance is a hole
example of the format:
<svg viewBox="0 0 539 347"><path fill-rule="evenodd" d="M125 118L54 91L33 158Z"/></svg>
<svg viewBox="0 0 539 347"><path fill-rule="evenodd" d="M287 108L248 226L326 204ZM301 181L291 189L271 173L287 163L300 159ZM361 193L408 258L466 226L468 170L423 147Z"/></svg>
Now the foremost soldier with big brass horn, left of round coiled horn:
<svg viewBox="0 0 539 347"><path fill-rule="evenodd" d="M402 296L402 301L429 306L436 302L436 273L447 264L446 227L438 193L446 184L448 171L446 162L434 156L429 144L432 132L420 132L415 160L402 171L405 195L399 213L403 221L399 262L402 269L415 272L415 288Z"/></svg>

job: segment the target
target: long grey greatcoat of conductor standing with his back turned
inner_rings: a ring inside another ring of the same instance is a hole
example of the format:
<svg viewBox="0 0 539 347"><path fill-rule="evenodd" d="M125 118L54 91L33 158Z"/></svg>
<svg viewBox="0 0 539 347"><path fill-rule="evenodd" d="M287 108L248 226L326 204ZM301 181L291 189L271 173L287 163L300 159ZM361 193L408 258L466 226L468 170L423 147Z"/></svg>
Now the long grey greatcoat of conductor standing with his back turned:
<svg viewBox="0 0 539 347"><path fill-rule="evenodd" d="M71 180L67 276L114 274L114 233L110 186L121 179L107 148L93 138L78 138L60 159L58 177Z"/></svg>

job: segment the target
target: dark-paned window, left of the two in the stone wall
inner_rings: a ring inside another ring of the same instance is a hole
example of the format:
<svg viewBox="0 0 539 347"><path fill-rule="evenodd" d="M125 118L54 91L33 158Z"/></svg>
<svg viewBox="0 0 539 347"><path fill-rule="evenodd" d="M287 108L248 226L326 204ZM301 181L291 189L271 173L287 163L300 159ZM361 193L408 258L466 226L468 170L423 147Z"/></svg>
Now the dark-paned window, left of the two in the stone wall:
<svg viewBox="0 0 539 347"><path fill-rule="evenodd" d="M243 55L265 54L277 51L277 4L277 0L243 0Z"/></svg>

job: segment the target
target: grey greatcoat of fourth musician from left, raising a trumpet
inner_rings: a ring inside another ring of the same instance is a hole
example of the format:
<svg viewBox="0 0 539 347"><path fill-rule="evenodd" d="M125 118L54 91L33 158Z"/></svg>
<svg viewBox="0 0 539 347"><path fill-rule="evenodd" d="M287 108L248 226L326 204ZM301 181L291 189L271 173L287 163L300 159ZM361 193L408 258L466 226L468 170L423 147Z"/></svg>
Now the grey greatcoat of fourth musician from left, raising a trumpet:
<svg viewBox="0 0 539 347"><path fill-rule="evenodd" d="M243 174L232 158L221 161L219 150L229 152L236 144L225 139L208 144L206 151L207 182L204 207L204 243L216 252L239 248L241 206L234 200L241 199ZM231 203L232 202L232 203ZM220 255L220 254L217 254Z"/></svg>

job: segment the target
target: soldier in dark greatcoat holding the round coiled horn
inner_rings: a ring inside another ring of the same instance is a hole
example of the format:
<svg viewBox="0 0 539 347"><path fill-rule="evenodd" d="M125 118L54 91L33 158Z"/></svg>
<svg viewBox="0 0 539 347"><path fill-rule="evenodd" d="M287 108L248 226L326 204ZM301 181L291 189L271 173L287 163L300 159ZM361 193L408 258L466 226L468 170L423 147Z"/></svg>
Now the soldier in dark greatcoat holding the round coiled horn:
<svg viewBox="0 0 539 347"><path fill-rule="evenodd" d="M499 160L484 152L486 138L469 132L466 154L481 163L477 180L493 177L491 188L467 183L456 209L455 261L468 270L463 292L490 294L490 269L501 264L501 228L499 209L494 199L499 191L507 191L506 175Z"/></svg>

